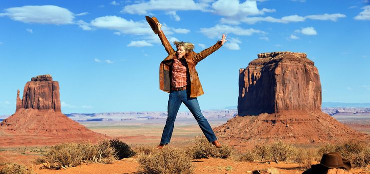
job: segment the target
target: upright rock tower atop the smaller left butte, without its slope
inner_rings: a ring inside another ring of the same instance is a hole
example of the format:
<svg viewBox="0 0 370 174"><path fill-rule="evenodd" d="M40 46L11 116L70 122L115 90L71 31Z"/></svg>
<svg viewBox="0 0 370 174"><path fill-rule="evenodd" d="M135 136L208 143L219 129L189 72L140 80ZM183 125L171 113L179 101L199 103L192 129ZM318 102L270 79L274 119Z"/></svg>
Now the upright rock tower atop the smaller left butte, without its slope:
<svg viewBox="0 0 370 174"><path fill-rule="evenodd" d="M20 108L53 109L60 111L59 83L52 81L50 75L36 76L24 86L22 100L17 91L16 110Z"/></svg>

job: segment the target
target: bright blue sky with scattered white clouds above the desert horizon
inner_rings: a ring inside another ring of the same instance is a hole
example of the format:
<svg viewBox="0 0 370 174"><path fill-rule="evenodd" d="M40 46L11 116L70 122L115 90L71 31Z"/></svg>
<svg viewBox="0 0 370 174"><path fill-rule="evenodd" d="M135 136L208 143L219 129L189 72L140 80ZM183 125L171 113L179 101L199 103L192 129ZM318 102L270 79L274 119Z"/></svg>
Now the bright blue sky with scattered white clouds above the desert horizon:
<svg viewBox="0 0 370 174"><path fill-rule="evenodd" d="M166 111L167 55L145 15L196 52L227 34L197 66L203 110L237 105L239 69L273 51L307 53L323 101L370 102L369 0L1 0L0 115L43 74L59 82L64 113Z"/></svg>

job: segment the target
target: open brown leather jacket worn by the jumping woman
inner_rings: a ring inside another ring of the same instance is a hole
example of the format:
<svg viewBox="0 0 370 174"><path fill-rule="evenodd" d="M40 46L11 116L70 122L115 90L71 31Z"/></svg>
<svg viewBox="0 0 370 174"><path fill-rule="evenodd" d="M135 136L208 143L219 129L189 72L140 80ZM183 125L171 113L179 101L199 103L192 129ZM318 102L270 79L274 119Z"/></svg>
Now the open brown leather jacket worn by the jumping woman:
<svg viewBox="0 0 370 174"><path fill-rule="evenodd" d="M176 58L176 52L168 42L163 31L159 32L158 36L168 53L168 56L161 62L159 66L159 88L163 91L170 92L170 67L173 59ZM195 66L198 64L198 62L218 50L221 46L221 41L218 41L215 45L201 51L200 53L195 53L193 51L185 54L184 57L188 65L188 76L190 76L190 84L188 84L187 88L187 90L190 88L190 97L197 97L204 94L202 85L199 81L198 72L195 70Z"/></svg>

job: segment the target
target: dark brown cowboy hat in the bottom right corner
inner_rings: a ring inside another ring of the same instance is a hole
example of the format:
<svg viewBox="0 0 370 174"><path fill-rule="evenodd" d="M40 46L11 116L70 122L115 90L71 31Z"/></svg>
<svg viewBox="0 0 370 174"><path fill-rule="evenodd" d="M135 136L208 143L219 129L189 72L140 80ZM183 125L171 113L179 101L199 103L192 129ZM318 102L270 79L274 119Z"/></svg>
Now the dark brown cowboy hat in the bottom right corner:
<svg viewBox="0 0 370 174"><path fill-rule="evenodd" d="M311 168L314 171L334 168L351 170L351 163L348 160L343 159L340 153L332 152L329 154L324 154L321 158L320 164L312 165Z"/></svg>

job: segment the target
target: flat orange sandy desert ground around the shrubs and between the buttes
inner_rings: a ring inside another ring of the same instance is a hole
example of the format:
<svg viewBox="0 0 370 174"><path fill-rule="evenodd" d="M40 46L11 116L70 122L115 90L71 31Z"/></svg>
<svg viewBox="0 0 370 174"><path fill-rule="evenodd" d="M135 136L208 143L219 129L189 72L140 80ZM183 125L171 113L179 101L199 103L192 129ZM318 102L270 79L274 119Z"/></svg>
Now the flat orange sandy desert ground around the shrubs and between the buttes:
<svg viewBox="0 0 370 174"><path fill-rule="evenodd" d="M370 116L362 118L337 118L351 128L370 133ZM209 119L212 127L225 123L227 119ZM153 148L158 145L165 123L165 119L153 120L125 120L125 121L86 121L79 122L87 128L137 147L149 145ZM190 140L202 136L202 132L193 119L178 119L175 123L173 138L170 146L187 147ZM0 162L15 162L32 168L35 174L134 174L138 171L137 156L123 159L113 164L83 164L67 170L40 170L40 165L34 165L34 158L45 152L47 147L7 147L0 148ZM301 174L304 169L296 163L274 162L239 162L238 152L231 159L200 159L193 160L194 174L248 174L254 170L276 168L280 174ZM315 162L319 163L319 162ZM368 166L369 168L369 166ZM353 169L353 174L369 174L369 169Z"/></svg>

